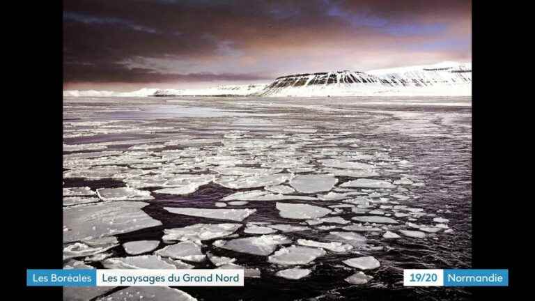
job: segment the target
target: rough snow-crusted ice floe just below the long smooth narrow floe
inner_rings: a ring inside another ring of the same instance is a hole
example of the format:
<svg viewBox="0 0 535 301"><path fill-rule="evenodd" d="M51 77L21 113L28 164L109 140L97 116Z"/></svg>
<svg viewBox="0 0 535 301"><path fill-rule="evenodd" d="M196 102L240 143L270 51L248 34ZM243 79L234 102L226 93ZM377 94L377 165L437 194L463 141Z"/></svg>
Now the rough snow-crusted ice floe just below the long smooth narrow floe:
<svg viewBox="0 0 535 301"><path fill-rule="evenodd" d="M229 236L241 226L242 224L193 224L183 228L164 229L162 240L211 240Z"/></svg>

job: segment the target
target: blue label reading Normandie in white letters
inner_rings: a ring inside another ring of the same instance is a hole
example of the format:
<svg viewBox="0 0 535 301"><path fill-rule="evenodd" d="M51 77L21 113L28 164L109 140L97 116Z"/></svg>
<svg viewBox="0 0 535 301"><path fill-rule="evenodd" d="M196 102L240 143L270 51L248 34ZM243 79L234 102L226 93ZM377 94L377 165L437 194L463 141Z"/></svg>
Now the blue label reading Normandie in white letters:
<svg viewBox="0 0 535 301"><path fill-rule="evenodd" d="M444 286L509 286L509 270L444 270Z"/></svg>

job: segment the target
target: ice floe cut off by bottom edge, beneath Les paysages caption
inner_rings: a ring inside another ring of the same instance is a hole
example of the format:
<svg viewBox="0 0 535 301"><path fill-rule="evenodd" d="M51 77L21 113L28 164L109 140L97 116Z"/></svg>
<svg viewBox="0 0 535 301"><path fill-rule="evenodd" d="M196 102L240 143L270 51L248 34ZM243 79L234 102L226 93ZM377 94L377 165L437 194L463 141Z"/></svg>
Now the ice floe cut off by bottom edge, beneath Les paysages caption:
<svg viewBox="0 0 535 301"><path fill-rule="evenodd" d="M87 299L88 300L88 299ZM196 301L188 293L168 286L130 286L115 291L95 301L154 300L154 301Z"/></svg>

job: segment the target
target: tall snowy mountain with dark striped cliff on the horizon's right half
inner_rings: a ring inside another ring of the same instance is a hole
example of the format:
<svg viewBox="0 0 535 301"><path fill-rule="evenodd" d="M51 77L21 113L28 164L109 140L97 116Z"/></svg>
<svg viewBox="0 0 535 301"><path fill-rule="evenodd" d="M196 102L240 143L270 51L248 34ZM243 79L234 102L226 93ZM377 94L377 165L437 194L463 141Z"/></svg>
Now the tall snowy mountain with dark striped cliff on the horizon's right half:
<svg viewBox="0 0 535 301"><path fill-rule="evenodd" d="M261 96L471 95L472 64L337 71L278 77Z"/></svg>

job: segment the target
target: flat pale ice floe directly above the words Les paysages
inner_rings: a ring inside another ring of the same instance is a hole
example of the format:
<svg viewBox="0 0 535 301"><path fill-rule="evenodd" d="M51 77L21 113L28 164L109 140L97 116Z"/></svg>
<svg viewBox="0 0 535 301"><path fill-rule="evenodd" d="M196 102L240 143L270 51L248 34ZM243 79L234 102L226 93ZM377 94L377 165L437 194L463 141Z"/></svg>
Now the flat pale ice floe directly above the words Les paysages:
<svg viewBox="0 0 535 301"><path fill-rule="evenodd" d="M102 265L109 269L176 269L157 255L107 258Z"/></svg>

